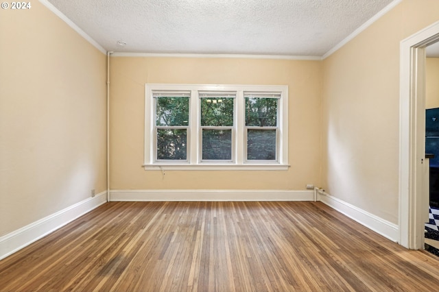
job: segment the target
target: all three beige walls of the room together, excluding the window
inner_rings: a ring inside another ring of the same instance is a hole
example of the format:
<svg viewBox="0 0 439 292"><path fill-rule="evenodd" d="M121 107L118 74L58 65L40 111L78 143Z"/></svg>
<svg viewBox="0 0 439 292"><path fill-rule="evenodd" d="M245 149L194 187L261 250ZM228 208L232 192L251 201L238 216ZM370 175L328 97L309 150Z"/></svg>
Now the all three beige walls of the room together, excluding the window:
<svg viewBox="0 0 439 292"><path fill-rule="evenodd" d="M112 57L110 188L311 183L398 223L399 43L436 21L439 1L404 0L323 62ZM106 56L38 1L0 27L1 236L105 190ZM143 170L146 83L288 85L292 167Z"/></svg>

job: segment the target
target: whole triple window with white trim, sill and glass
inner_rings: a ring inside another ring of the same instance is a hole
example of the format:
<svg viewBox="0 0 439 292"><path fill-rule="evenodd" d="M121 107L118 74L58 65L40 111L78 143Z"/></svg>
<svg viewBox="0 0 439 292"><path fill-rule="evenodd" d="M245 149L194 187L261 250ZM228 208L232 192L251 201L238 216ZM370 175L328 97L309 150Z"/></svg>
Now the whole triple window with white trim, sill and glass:
<svg viewBox="0 0 439 292"><path fill-rule="evenodd" d="M287 86L145 86L145 169L287 169Z"/></svg>

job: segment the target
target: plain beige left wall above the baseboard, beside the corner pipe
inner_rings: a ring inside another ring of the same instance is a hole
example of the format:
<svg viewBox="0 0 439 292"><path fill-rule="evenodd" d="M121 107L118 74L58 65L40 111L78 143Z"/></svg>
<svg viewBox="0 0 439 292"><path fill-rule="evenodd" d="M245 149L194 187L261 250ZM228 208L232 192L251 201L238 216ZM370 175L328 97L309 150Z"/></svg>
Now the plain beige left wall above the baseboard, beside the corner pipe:
<svg viewBox="0 0 439 292"><path fill-rule="evenodd" d="M106 55L38 1L0 27L1 236L106 189Z"/></svg>

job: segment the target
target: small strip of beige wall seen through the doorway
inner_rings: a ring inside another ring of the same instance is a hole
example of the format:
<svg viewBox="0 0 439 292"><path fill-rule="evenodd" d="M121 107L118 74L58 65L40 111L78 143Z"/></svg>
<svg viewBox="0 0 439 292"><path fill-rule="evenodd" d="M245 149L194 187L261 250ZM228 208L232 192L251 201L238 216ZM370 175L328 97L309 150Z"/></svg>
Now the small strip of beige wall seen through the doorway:
<svg viewBox="0 0 439 292"><path fill-rule="evenodd" d="M425 108L439 108L439 58L427 58L425 83Z"/></svg>

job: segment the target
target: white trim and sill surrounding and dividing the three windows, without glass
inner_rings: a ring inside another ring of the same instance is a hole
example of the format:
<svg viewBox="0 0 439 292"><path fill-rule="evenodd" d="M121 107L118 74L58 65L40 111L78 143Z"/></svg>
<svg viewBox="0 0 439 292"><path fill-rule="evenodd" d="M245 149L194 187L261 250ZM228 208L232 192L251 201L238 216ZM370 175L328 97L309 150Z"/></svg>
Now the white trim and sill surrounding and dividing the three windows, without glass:
<svg viewBox="0 0 439 292"><path fill-rule="evenodd" d="M154 138L154 98L153 90L190 90L189 133L187 147L189 147L189 161L155 162ZM235 112L244 112L244 92L280 93L278 103L278 160L246 162L244 142L245 120L244 114L235 114L235 161L233 162L201 162L200 159L200 99L199 91L235 91ZM143 167L145 170L286 170L288 169L288 86L277 85L204 85L204 84L145 84L145 154Z"/></svg>

